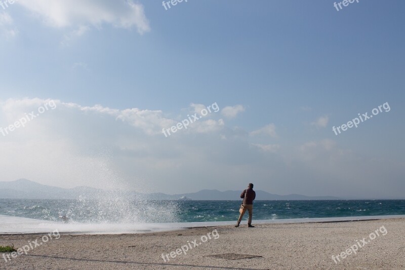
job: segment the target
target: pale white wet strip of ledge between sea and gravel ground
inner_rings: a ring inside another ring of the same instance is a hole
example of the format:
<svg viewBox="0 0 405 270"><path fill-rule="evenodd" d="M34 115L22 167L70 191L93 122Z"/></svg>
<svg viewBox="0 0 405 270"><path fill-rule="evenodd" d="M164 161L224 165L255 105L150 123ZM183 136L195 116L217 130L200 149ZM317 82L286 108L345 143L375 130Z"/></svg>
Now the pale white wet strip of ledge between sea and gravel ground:
<svg viewBox="0 0 405 270"><path fill-rule="evenodd" d="M367 219L405 218L405 215L291 218L254 220L254 224L334 222ZM242 221L244 222L244 221ZM25 217L0 215L0 234L36 234L58 230L61 234L135 234L165 232L189 227L232 225L236 221L178 222L178 223L63 223Z"/></svg>

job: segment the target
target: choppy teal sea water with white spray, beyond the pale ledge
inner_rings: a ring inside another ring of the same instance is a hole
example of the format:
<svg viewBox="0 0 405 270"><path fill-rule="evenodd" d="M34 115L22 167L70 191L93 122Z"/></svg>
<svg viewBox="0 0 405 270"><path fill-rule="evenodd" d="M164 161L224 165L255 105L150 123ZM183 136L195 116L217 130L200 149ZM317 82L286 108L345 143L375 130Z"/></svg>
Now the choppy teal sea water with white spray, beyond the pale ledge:
<svg viewBox="0 0 405 270"><path fill-rule="evenodd" d="M0 215L52 222L62 222L61 216L66 216L68 223L76 224L218 222L235 221L240 203L0 199ZM405 200L255 201L253 211L256 220L380 215L405 215Z"/></svg>

